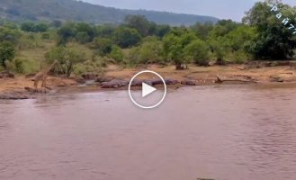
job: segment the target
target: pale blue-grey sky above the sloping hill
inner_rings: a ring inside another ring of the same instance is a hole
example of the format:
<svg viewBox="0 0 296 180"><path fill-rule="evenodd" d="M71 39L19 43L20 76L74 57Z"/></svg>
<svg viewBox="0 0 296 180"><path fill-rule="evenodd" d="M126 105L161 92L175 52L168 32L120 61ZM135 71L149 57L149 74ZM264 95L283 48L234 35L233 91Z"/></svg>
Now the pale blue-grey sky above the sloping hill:
<svg viewBox="0 0 296 180"><path fill-rule="evenodd" d="M180 14L210 15L240 22L256 0L83 0L121 9L145 9ZM296 6L296 0L283 0Z"/></svg>

